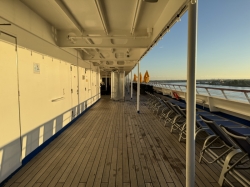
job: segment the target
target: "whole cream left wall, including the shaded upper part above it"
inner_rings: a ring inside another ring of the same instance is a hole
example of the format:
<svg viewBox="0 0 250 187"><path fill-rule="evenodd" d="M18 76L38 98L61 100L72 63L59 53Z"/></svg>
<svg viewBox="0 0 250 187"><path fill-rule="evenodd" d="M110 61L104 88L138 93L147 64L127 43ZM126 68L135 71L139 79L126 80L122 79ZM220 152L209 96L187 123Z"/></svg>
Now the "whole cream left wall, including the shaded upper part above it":
<svg viewBox="0 0 250 187"><path fill-rule="evenodd" d="M15 36L19 46L16 53L15 39L1 33L1 183L32 151L90 106L90 81L96 80L90 79L91 64L78 58L76 50L59 48L56 29L21 1L1 0L0 22L11 23L0 31ZM34 71L37 66L40 71ZM95 101L97 97L91 104Z"/></svg>

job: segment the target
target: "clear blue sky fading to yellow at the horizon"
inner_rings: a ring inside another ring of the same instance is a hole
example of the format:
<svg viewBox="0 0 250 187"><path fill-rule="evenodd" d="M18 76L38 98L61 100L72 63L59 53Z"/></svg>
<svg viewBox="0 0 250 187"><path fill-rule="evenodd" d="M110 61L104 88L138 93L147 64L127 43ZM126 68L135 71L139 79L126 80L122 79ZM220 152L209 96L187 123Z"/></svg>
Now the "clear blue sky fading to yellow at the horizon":
<svg viewBox="0 0 250 187"><path fill-rule="evenodd" d="M249 8L250 0L199 0L197 79L250 79ZM140 61L142 75L186 79L187 28L188 12Z"/></svg>

